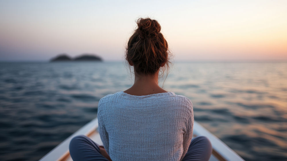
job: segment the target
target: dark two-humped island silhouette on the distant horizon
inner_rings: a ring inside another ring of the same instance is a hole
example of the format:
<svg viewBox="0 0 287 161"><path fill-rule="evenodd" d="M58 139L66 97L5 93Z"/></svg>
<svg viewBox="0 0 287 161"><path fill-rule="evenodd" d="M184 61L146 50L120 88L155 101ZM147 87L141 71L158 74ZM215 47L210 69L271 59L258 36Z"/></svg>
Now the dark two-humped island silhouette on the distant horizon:
<svg viewBox="0 0 287 161"><path fill-rule="evenodd" d="M101 57L94 55L94 54L90 54L90 53L84 53L75 58L71 58L66 53L61 53L50 60L50 62L67 62L67 61L100 61L101 62L103 60Z"/></svg>

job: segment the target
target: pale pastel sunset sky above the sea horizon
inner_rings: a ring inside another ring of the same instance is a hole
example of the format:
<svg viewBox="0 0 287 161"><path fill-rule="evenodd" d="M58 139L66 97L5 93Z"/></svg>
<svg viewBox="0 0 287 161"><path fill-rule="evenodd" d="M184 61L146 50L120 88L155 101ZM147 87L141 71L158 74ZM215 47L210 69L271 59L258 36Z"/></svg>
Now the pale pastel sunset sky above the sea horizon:
<svg viewBox="0 0 287 161"><path fill-rule="evenodd" d="M140 17L158 20L176 61L287 60L284 0L0 0L0 61L121 61Z"/></svg>

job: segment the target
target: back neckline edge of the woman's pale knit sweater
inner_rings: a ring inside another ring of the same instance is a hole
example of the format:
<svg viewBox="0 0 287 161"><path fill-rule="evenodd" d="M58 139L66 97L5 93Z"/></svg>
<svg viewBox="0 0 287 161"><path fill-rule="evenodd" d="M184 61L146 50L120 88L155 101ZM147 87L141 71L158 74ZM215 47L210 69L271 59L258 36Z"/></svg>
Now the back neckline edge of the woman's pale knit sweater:
<svg viewBox="0 0 287 161"><path fill-rule="evenodd" d="M174 92L164 92L164 93L154 93L150 95L130 95L128 93L125 93L124 91L120 91L120 96L124 98L129 98L129 99L154 99L154 98L162 98L162 97L170 97L174 96Z"/></svg>

